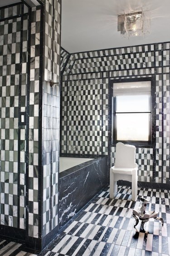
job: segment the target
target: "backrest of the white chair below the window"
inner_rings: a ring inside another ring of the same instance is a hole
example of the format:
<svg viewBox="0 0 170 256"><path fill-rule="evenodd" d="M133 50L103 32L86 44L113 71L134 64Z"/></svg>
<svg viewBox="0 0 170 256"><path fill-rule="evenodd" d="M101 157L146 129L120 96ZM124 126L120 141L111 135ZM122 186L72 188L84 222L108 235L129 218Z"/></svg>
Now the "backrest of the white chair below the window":
<svg viewBox="0 0 170 256"><path fill-rule="evenodd" d="M135 168L136 147L118 142L116 145L115 167Z"/></svg>

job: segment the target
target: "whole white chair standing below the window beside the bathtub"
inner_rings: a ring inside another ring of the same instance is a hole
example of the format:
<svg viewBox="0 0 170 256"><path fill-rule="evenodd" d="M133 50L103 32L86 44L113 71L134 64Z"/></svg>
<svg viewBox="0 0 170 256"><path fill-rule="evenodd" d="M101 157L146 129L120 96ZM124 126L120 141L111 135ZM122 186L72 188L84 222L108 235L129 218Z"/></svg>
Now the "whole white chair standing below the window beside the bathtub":
<svg viewBox="0 0 170 256"><path fill-rule="evenodd" d="M115 165L110 169L110 198L117 194L117 181L131 182L131 200L137 198L136 147L118 142L116 145Z"/></svg>

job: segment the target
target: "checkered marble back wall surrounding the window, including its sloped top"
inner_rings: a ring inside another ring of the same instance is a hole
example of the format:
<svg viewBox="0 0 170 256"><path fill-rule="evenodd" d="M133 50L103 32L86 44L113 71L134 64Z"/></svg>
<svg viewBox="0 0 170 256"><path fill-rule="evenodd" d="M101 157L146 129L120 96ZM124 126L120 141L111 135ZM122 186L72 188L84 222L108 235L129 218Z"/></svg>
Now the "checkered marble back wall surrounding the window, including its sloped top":
<svg viewBox="0 0 170 256"><path fill-rule="evenodd" d="M109 82L154 77L156 145L136 148L138 181L170 184L170 43L73 53L63 61L61 153L109 154L113 164Z"/></svg>

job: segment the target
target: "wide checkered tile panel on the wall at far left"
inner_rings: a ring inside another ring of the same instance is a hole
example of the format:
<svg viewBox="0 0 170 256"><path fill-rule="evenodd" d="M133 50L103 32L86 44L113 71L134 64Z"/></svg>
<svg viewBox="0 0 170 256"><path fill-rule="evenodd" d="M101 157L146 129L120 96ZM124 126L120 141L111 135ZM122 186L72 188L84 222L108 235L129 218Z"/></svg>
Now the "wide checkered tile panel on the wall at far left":
<svg viewBox="0 0 170 256"><path fill-rule="evenodd" d="M0 224L25 229L27 8L0 9ZM15 18L13 18L15 16ZM18 17L17 17L18 16Z"/></svg>

